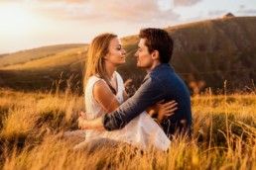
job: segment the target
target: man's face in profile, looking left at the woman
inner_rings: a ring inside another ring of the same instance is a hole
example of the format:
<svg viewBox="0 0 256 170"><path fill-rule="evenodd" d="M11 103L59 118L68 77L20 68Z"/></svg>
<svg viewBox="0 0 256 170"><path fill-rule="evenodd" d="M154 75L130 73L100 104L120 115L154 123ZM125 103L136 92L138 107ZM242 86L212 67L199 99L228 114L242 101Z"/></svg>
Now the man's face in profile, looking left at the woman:
<svg viewBox="0 0 256 170"><path fill-rule="evenodd" d="M152 68L153 59L151 53L149 53L148 47L145 45L145 41L145 39L140 40L135 57L137 58L137 67L144 68L148 72Z"/></svg>

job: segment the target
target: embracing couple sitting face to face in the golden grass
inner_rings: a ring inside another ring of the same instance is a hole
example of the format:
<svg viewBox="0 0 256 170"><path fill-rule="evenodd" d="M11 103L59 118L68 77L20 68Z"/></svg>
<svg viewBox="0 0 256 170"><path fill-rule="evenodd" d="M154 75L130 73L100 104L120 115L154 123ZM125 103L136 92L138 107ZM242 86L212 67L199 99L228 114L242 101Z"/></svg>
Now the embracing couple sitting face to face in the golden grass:
<svg viewBox="0 0 256 170"><path fill-rule="evenodd" d="M118 37L102 34L91 42L84 76L86 113L78 118L85 140L77 148L95 139L110 139L167 150L173 135L191 133L190 94L169 64L173 40L166 31L152 28L141 30L139 37L135 57L147 75L130 98L116 72L126 54ZM148 113L157 113L159 124Z"/></svg>

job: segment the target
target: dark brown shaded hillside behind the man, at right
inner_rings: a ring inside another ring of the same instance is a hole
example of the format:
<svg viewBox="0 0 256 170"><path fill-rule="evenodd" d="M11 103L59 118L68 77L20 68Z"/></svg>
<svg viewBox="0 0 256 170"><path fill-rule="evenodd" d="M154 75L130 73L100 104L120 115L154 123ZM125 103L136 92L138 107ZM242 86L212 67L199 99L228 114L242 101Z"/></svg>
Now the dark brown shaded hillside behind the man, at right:
<svg viewBox="0 0 256 170"><path fill-rule="evenodd" d="M235 91L245 86L255 90L256 81L256 17L232 17L201 21L166 28L173 38L172 64L187 84L215 91ZM126 38L138 41L137 37ZM136 44L129 44L136 49ZM135 51L135 50L133 50ZM121 68L136 70L134 63ZM254 87L253 87L254 86ZM248 89L248 88L247 88Z"/></svg>

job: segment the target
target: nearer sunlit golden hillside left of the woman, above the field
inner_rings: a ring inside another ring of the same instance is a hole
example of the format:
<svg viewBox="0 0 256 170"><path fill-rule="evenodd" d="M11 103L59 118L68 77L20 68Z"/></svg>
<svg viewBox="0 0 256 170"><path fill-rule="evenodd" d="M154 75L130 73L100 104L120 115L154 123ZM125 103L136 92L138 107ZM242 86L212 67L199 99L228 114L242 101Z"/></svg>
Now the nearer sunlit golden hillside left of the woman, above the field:
<svg viewBox="0 0 256 170"><path fill-rule="evenodd" d="M81 64L84 63L87 47L87 44L83 44L43 58L1 67L0 86L25 91L50 90L57 86L64 88L66 84L60 85L60 82L65 82L74 72L77 78L77 72L83 69Z"/></svg>

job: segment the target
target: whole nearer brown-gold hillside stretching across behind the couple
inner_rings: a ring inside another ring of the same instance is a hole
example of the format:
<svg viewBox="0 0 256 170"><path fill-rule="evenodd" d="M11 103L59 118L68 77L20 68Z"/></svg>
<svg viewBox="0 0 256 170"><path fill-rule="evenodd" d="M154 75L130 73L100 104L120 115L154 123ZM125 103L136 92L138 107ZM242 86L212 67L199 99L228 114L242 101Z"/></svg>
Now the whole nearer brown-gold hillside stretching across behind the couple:
<svg viewBox="0 0 256 170"><path fill-rule="evenodd" d="M207 87L218 91L225 80L230 91L242 90L245 86L247 90L255 89L252 79L256 81L256 17L220 18L166 30L175 42L172 64L193 92ZM127 60L118 70L124 79L134 79L136 87L145 75L143 70L136 68L134 52L138 41L138 36L122 39L128 51ZM85 57L86 47L74 47L23 64L2 67L0 86L47 90L63 73L61 87L66 87L69 78L68 86L72 82L73 88L81 90Z"/></svg>

